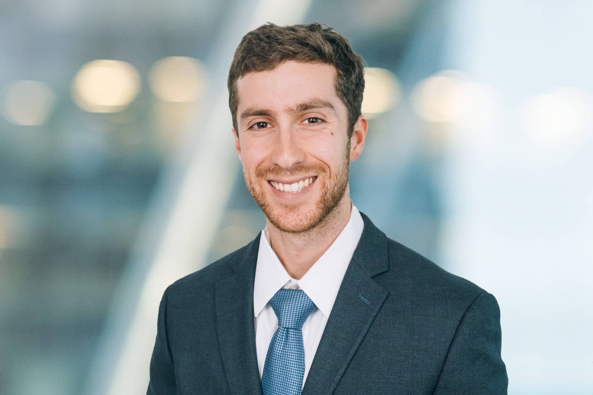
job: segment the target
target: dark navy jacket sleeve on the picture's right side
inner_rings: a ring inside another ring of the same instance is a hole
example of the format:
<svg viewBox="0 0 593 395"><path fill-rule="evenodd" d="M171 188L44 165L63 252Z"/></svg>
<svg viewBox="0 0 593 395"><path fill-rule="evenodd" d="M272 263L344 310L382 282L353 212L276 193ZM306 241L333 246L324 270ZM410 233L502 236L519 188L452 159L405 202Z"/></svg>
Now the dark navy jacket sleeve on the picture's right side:
<svg viewBox="0 0 593 395"><path fill-rule="evenodd" d="M461 318L433 395L506 395L500 343L500 309L496 298L484 292Z"/></svg>

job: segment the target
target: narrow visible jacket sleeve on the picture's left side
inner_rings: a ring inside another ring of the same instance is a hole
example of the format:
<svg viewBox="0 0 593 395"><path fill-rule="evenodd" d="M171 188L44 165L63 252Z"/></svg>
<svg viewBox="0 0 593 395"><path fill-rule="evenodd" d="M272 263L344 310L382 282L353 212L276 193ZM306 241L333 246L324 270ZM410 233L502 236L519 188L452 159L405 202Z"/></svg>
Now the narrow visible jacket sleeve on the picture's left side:
<svg viewBox="0 0 593 395"><path fill-rule="evenodd" d="M173 357L169 348L167 337L167 292L165 289L162 295L161 304L158 308L157 340L152 351L150 361L150 381L146 395L175 395L177 388L175 383L175 370Z"/></svg>

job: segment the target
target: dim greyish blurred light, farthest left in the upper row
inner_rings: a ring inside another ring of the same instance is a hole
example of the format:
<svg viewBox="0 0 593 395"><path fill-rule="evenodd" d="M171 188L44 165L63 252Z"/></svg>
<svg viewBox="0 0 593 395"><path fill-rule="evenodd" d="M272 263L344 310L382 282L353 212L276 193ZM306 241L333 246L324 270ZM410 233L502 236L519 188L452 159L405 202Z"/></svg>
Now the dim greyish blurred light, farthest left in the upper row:
<svg viewBox="0 0 593 395"><path fill-rule="evenodd" d="M8 122L15 125L43 125L54 103L55 95L49 86L25 79L8 85L1 110Z"/></svg>

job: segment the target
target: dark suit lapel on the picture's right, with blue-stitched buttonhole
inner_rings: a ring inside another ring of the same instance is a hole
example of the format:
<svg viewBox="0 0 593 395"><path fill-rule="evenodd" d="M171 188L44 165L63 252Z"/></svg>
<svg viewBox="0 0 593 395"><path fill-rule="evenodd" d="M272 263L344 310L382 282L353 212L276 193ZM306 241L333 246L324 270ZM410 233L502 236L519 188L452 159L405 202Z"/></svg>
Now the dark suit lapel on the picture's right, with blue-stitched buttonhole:
<svg viewBox="0 0 593 395"><path fill-rule="evenodd" d="M372 276L389 268L387 237L362 214L364 230L305 381L302 395L331 394L389 292Z"/></svg>

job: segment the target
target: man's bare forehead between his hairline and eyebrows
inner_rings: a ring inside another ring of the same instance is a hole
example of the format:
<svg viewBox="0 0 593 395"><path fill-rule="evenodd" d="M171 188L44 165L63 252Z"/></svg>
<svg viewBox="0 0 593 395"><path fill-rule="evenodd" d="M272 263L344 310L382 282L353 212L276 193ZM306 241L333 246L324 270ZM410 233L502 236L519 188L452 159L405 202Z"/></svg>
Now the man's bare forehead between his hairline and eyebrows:
<svg viewBox="0 0 593 395"><path fill-rule="evenodd" d="M281 63L269 71L257 71L237 80L238 112L249 106L283 109L311 97L342 102L336 95L336 68L326 63Z"/></svg>

